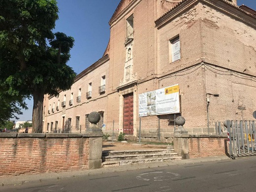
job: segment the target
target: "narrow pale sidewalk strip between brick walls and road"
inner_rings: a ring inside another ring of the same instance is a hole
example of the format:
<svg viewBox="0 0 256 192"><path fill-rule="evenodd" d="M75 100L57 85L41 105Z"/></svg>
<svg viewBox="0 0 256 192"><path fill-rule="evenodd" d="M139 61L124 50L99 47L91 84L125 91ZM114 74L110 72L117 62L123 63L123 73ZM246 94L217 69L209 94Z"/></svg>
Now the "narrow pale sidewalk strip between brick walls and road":
<svg viewBox="0 0 256 192"><path fill-rule="evenodd" d="M67 172L58 172L58 173L41 173L34 175L18 175L18 176L6 176L0 177L0 185L22 185L29 182L42 182L47 180L59 180L63 178L70 177L79 177L79 176L91 176L91 175L100 175L103 173L113 173L113 172L123 172L147 168L158 168L165 166L175 166L175 165L185 165L193 163L201 163L208 161L221 161L221 160L230 160L227 156L215 156L207 158L196 158L189 160L174 160L174 161L165 161L165 162L150 162L143 164L132 164L132 165L122 165L116 167L106 167L94 170L83 170L83 171L67 171ZM1 188L0 186L0 188Z"/></svg>

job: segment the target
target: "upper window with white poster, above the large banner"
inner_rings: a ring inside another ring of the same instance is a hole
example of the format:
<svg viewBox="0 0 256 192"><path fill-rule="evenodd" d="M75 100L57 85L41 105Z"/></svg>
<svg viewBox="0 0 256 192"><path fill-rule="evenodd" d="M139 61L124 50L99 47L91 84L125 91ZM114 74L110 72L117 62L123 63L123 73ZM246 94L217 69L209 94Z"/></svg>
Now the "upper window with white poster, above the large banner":
<svg viewBox="0 0 256 192"><path fill-rule="evenodd" d="M180 59L180 36L177 36L169 40L169 63Z"/></svg>

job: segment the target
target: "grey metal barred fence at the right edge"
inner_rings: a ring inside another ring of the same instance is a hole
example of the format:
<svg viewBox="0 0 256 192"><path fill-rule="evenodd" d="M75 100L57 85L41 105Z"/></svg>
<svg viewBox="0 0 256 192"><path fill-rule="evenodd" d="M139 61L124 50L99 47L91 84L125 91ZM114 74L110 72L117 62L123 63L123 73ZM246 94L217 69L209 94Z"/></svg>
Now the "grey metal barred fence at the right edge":
<svg viewBox="0 0 256 192"><path fill-rule="evenodd" d="M230 158L256 155L256 121L227 121Z"/></svg>

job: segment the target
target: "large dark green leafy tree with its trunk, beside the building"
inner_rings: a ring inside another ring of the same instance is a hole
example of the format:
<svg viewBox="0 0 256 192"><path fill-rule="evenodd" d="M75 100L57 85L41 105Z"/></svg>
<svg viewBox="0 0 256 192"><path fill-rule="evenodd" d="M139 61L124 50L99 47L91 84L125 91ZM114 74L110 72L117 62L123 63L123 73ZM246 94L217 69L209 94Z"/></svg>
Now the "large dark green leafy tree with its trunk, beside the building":
<svg viewBox="0 0 256 192"><path fill-rule="evenodd" d="M56 0L2 1L0 75L10 92L33 96L33 132L42 132L44 95L57 96L74 82L76 73L66 65L74 39L52 32L58 19ZM5 67L11 70L4 72Z"/></svg>

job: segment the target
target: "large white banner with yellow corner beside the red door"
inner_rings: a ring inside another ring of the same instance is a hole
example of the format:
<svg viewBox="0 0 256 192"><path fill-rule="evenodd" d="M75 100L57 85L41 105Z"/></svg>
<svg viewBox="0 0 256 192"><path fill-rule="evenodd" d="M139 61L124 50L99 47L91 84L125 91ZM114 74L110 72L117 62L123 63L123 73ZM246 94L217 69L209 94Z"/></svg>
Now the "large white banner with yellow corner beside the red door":
<svg viewBox="0 0 256 192"><path fill-rule="evenodd" d="M139 117L180 113L179 84L139 94Z"/></svg>

